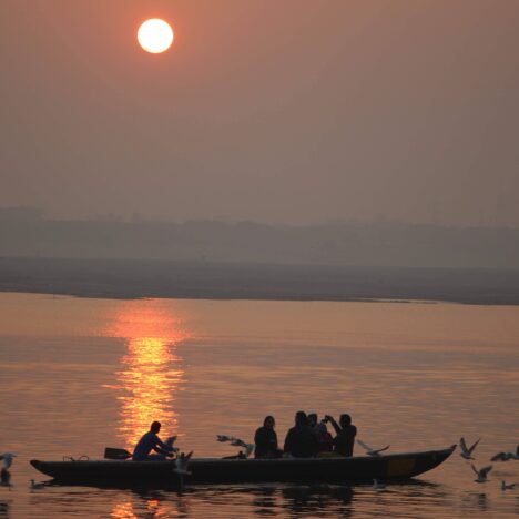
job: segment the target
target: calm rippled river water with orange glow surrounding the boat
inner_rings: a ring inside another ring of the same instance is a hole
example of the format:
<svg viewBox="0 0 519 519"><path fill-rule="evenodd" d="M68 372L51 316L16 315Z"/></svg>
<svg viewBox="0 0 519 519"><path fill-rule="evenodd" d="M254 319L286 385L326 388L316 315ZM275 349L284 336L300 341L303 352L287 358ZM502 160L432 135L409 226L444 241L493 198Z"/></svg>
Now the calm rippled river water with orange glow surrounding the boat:
<svg viewBox="0 0 519 519"><path fill-rule="evenodd" d="M30 491L31 458L130 448L152 419L195 456L215 434L283 440L299 408L348 411L391 451L475 440L478 466L519 442L519 307L421 303L103 301L0 295L0 451L18 452L1 517L399 517L519 515L519 461L477 485L458 454L413 484L374 490L197 488L183 496L82 487Z"/></svg>

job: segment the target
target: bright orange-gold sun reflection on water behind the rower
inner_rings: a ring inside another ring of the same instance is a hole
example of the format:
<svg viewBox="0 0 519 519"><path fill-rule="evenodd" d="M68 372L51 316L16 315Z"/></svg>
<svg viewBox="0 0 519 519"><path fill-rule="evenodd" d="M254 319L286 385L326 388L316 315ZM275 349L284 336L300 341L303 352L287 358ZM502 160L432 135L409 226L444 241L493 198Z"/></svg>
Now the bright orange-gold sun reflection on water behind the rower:
<svg viewBox="0 0 519 519"><path fill-rule="evenodd" d="M119 436L125 448L133 449L153 420L164 424L164 432L174 434L174 403L183 377L176 347L186 333L171 302L124 303L109 333L124 338L128 347L116 373L116 388L122 391Z"/></svg>

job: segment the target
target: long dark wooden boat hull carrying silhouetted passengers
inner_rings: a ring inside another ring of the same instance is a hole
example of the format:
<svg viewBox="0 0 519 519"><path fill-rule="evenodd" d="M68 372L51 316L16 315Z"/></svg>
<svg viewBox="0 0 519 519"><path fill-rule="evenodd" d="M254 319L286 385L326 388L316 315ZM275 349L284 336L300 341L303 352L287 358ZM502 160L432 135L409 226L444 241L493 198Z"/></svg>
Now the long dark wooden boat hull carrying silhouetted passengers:
<svg viewBox="0 0 519 519"><path fill-rule="evenodd" d="M445 461L456 446L442 450L354 456L350 458L216 459L194 458L189 476L175 472L174 460L75 460L31 465L55 484L109 487L177 487L180 485L328 482L352 484L413 478Z"/></svg>

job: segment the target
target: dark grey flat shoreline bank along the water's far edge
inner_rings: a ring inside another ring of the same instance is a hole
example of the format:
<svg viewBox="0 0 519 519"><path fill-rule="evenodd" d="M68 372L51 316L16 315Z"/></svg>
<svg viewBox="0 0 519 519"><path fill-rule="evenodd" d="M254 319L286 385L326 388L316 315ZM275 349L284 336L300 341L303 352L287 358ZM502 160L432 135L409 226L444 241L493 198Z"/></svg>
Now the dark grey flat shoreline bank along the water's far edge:
<svg viewBox="0 0 519 519"><path fill-rule="evenodd" d="M116 299L519 305L519 271L0 258L0 292Z"/></svg>

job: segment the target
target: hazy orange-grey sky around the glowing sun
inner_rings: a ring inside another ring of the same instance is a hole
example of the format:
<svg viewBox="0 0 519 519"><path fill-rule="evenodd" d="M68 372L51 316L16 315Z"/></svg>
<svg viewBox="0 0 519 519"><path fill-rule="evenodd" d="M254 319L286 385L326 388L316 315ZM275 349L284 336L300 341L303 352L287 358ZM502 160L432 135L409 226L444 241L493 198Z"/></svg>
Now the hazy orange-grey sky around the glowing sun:
<svg viewBox="0 0 519 519"><path fill-rule="evenodd" d="M518 28L517 0L1 0L0 206L519 226Z"/></svg>

